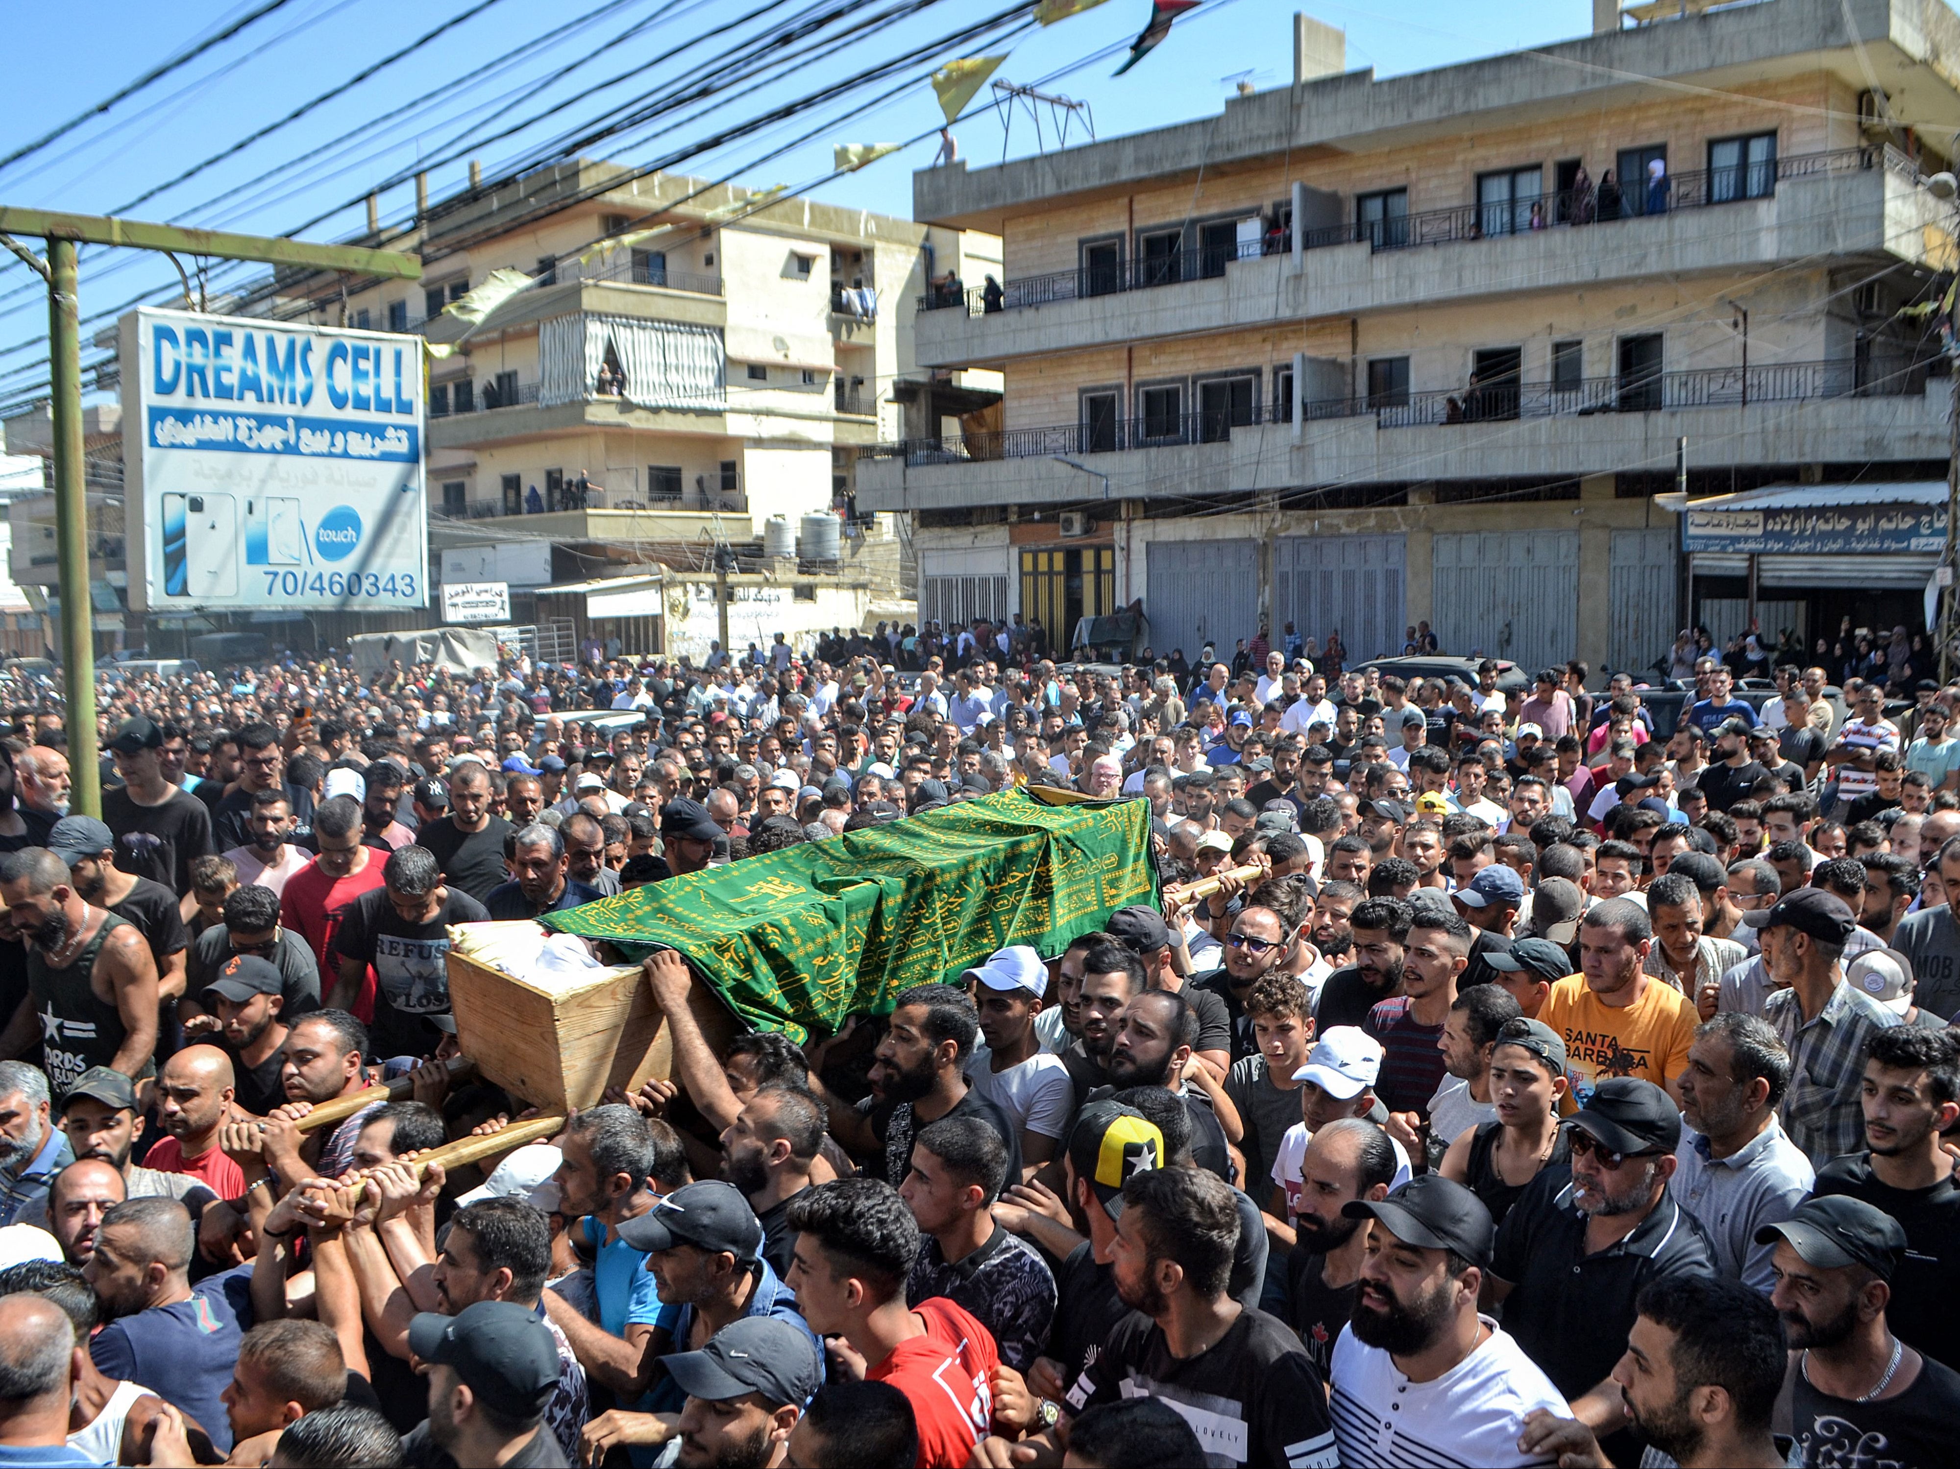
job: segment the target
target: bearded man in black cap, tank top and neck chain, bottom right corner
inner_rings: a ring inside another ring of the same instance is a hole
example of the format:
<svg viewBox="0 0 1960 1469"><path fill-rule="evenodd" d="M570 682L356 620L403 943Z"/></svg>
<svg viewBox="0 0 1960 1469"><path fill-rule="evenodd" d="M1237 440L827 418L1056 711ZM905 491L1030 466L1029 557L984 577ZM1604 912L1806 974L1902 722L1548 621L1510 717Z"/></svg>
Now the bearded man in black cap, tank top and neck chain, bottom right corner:
<svg viewBox="0 0 1960 1469"><path fill-rule="evenodd" d="M1797 1348L1789 1375L1791 1463L1954 1461L1960 1375L1891 1334L1886 1308L1905 1230L1862 1199L1811 1199L1756 1232L1776 1244L1770 1301Z"/></svg>

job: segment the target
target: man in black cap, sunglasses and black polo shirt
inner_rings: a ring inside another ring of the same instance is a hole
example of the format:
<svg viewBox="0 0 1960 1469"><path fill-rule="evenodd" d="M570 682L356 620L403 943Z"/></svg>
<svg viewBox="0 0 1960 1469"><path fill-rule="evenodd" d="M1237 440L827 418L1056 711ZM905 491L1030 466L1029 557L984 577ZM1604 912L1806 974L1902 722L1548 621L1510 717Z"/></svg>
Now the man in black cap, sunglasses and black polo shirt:
<svg viewBox="0 0 1960 1469"><path fill-rule="evenodd" d="M1682 1114L1639 1077L1607 1077L1572 1118L1572 1169L1546 1167L1497 1230L1494 1299L1503 1328L1601 1436L1615 1463L1639 1461L1621 1430L1613 1365L1650 1281L1715 1275L1707 1236L1668 1193ZM1611 1430L1611 1432L1609 1432Z"/></svg>

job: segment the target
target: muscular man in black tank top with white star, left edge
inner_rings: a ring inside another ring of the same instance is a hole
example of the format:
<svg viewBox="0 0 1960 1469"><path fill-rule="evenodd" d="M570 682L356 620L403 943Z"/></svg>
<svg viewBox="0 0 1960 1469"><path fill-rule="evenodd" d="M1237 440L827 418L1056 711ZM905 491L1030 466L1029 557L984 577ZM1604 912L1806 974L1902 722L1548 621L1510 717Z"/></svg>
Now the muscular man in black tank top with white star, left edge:
<svg viewBox="0 0 1960 1469"><path fill-rule="evenodd" d="M147 1071L157 1050L157 962L135 926L90 907L69 864L39 846L0 858L0 899L27 940L27 995L0 1034L0 1052L27 1050L39 1024L57 1089L92 1066L127 1077Z"/></svg>

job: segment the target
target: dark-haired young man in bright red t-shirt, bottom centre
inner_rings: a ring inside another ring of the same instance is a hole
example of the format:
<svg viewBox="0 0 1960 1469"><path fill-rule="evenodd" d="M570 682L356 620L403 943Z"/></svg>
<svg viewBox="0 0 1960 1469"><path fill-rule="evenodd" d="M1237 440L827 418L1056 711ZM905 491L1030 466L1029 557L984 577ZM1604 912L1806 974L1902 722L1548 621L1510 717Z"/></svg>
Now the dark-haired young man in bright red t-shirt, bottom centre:
<svg viewBox="0 0 1960 1469"><path fill-rule="evenodd" d="M796 1254L790 1287L817 1336L841 1336L839 1357L890 1383L919 1424L917 1469L960 1469L994 1422L1000 1351L986 1326L935 1297L906 1304L919 1226L882 1179L837 1179L790 1201ZM853 1291L853 1287L857 1287Z"/></svg>

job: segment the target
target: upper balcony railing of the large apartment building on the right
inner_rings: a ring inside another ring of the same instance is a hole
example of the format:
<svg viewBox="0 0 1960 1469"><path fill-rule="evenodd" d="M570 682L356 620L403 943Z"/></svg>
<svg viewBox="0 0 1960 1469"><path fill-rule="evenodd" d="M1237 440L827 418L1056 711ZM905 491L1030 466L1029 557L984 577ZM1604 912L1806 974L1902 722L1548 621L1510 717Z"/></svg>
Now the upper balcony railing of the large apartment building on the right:
<svg viewBox="0 0 1960 1469"><path fill-rule="evenodd" d="M1835 149L1831 153L1797 153L1786 159L1737 165L1733 168L1703 168L1699 172L1668 174L1666 198L1656 200L1660 213L1701 210L1715 204L1746 204L1774 198L1776 184L1786 178L1815 178L1819 174L1886 172L1917 180L1917 165L1895 147ZM1648 213L1646 180L1621 192L1619 200L1601 202L1597 186L1564 190L1503 204L1460 204L1448 210L1425 210L1390 219L1350 221L1309 229L1301 249L1317 251L1331 245L1366 243L1376 251L1399 251L1415 245L1454 245L1460 241L1495 239L1499 235L1529 235L1543 229L1590 227L1639 219ZM1537 212L1537 213L1535 213ZM921 311L964 308L968 315L1011 311L1023 306L1047 306L1082 296L1115 296L1131 290L1174 286L1186 280L1223 276L1233 261L1254 261L1262 255L1284 255L1292 249L1292 231L1268 229L1260 241L1239 241L1209 249L1174 251L1170 255L1125 261L1107 266L1080 266L1045 276L1015 276L1007 280L996 302L986 290L949 290L935 286L919 298Z"/></svg>

